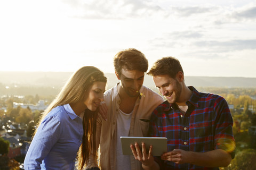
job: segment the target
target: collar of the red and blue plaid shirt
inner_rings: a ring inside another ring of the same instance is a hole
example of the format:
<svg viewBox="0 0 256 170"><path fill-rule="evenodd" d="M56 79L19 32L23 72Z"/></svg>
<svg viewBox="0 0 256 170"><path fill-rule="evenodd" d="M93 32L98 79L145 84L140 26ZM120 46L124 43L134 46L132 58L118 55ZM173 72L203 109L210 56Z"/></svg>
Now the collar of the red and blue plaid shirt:
<svg viewBox="0 0 256 170"><path fill-rule="evenodd" d="M188 88L192 91L192 95L189 98L189 100L186 102L186 104L189 105L189 103L190 103L190 104L198 107L199 106L198 101L199 101L199 98L200 98L199 97L199 92L193 86L188 86ZM164 104L166 104L166 107L165 107L164 111L169 111L170 109L175 109L175 108L178 109L177 104L174 103L174 104L169 104L168 105L167 100L164 102Z"/></svg>

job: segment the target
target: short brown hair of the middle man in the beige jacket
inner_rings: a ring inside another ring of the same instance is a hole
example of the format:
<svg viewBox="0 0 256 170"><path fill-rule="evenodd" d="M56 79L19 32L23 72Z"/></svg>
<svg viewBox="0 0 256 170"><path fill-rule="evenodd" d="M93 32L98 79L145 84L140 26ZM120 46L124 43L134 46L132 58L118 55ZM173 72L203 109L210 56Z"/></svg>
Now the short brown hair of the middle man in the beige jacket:
<svg viewBox="0 0 256 170"><path fill-rule="evenodd" d="M114 57L115 71L121 75L121 70L148 70L148 60L143 53L134 48L122 50Z"/></svg>

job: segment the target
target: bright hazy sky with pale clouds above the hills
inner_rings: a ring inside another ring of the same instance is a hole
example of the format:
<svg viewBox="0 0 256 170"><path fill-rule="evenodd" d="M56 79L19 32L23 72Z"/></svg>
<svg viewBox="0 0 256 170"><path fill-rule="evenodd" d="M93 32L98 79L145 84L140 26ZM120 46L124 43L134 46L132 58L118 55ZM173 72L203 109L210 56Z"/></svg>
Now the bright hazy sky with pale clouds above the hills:
<svg viewBox="0 0 256 170"><path fill-rule="evenodd" d="M173 56L185 76L256 78L256 1L0 1L0 71L114 73L127 48L149 68Z"/></svg>

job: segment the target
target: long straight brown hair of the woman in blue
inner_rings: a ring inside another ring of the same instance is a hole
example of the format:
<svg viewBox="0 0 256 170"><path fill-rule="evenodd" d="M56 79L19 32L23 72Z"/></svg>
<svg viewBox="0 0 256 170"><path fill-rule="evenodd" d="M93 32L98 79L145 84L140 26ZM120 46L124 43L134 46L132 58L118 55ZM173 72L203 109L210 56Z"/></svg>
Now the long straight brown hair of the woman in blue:
<svg viewBox="0 0 256 170"><path fill-rule="evenodd" d="M65 104L73 104L82 101L84 94L94 82L107 82L107 78L104 73L97 67L84 66L77 70L67 81L65 86L61 89L58 96L52 101L52 103L45 109L41 116L37 127L43 122L45 116L57 106ZM82 169L85 164L89 162L89 155L93 150L94 160L97 160L97 150L95 149L95 129L96 121L98 117L97 111L90 111L86 109L83 117L83 141L79 148L78 154L78 168ZM35 130L34 135L37 130Z"/></svg>

